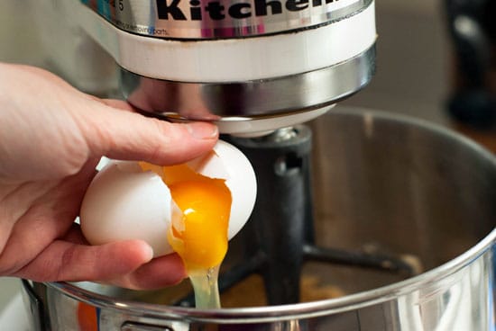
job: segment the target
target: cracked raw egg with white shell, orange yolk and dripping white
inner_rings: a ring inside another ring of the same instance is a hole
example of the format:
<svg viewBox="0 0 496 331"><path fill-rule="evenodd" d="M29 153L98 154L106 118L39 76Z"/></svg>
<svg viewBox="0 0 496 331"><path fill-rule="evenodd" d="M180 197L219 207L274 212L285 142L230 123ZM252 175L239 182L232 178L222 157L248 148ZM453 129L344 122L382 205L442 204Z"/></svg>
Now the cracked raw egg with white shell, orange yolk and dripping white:
<svg viewBox="0 0 496 331"><path fill-rule="evenodd" d="M255 196L252 165L219 140L210 153L182 165L110 161L90 183L79 221L92 245L142 239L155 257L177 252L197 307L218 308L218 268Z"/></svg>

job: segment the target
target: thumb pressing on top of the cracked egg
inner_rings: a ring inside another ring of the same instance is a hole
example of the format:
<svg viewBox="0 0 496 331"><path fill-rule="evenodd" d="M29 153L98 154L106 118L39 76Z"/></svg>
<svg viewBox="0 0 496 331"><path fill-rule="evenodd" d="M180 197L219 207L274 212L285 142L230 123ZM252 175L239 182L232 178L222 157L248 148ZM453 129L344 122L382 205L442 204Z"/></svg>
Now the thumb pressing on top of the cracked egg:
<svg viewBox="0 0 496 331"><path fill-rule="evenodd" d="M144 160L171 165L199 157L214 147L218 139L215 125L207 122L170 123L93 103L91 112L82 112L79 127L93 155Z"/></svg>

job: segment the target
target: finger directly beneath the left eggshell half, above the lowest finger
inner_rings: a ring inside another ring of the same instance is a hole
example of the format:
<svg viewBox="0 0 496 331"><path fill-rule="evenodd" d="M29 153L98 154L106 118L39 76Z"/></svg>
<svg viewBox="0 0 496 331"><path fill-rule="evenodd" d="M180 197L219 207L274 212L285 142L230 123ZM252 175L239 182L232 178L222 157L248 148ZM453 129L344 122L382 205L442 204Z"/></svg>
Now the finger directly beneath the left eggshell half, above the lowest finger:
<svg viewBox="0 0 496 331"><path fill-rule="evenodd" d="M141 240L102 246L57 240L14 276L36 282L112 280L150 262L152 255L152 248Z"/></svg>

